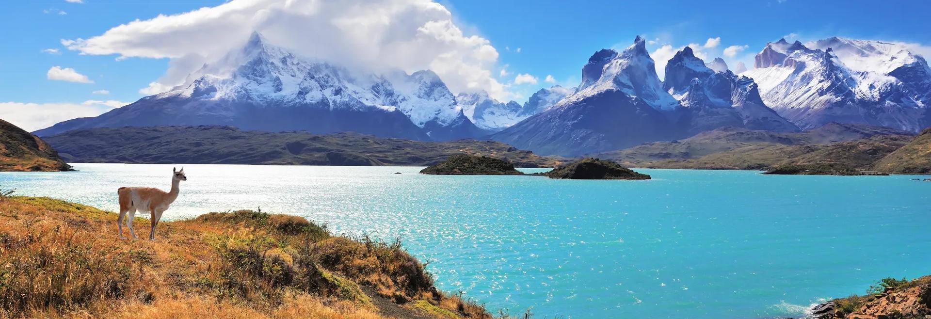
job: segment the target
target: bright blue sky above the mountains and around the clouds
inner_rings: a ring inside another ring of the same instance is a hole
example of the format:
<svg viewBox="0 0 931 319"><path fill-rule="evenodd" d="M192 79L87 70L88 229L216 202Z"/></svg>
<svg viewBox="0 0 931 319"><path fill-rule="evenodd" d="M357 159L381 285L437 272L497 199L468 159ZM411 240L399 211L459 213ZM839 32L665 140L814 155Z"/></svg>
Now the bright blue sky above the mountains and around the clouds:
<svg viewBox="0 0 931 319"><path fill-rule="evenodd" d="M7 45L0 50L0 103L7 102L7 106L0 107L0 118L14 111L41 113L40 106L50 103L61 104L58 109L48 109L56 113L68 110L68 105L75 105L74 108L83 105L102 112L113 107L108 104L142 98L145 95L140 92L142 88L166 75L169 59L116 59L120 54L99 55L88 53L86 48L69 49L61 40L88 39L133 20L150 20L160 14L181 14L224 3L71 1L9 2L0 11L0 27L7 30ZM662 54L657 50L666 45L670 49L668 54L682 46L697 44L707 60L723 56L726 47L747 46L732 57L724 57L732 68L738 60L747 61L752 67L753 54L767 41L789 34L803 42L839 35L931 46L926 24L926 14L931 9L928 1L446 0L440 4L452 12L453 23L466 37L477 35L494 47L497 58L478 63L491 73L494 85L503 87L499 96L520 102L534 90L550 86L545 81L547 75L561 85L576 85L582 65L594 51L602 47L627 47L637 34L651 41L648 49L657 52L654 60L659 63ZM720 41L708 42L709 38ZM183 41L167 39L165 46ZM127 46L115 50L125 52L129 50ZM53 51L44 51L47 49ZM78 74L74 76L87 78L67 77L72 82L50 79L49 69L56 66L65 70L66 74L61 76L74 75L67 70L74 69ZM518 74L530 77L516 82ZM101 94L103 91L109 93ZM75 114L88 112L94 111L81 110ZM52 120L48 116L51 115L34 115L29 121L41 122L35 120L40 117Z"/></svg>

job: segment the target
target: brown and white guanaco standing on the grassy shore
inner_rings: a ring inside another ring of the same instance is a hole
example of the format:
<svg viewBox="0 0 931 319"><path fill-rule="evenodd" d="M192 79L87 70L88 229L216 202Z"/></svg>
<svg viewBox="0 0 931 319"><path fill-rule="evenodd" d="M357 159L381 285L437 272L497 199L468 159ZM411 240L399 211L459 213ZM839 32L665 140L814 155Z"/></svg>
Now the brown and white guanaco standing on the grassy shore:
<svg viewBox="0 0 931 319"><path fill-rule="evenodd" d="M139 239L136 232L132 229L132 219L136 216L136 210L148 210L152 214L152 231L149 232L149 240L155 240L155 225L158 220L162 219L162 213L169 209L169 205L178 199L178 185L182 180L187 180L184 176L184 167L181 170L171 168L171 190L168 193L152 187L120 187L116 190L119 194L119 218L116 219L116 228L119 229L119 238L126 239L123 236L123 218L129 213L129 219L126 225L129 227L129 233L133 239Z"/></svg>

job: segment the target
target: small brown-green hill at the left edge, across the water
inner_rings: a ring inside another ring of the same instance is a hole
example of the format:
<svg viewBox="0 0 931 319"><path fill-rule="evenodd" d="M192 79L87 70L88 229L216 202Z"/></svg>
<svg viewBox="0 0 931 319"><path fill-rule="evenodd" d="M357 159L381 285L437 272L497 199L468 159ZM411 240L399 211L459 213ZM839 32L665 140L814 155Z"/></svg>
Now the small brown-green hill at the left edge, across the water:
<svg viewBox="0 0 931 319"><path fill-rule="evenodd" d="M51 146L33 134L0 120L0 171L72 170Z"/></svg>

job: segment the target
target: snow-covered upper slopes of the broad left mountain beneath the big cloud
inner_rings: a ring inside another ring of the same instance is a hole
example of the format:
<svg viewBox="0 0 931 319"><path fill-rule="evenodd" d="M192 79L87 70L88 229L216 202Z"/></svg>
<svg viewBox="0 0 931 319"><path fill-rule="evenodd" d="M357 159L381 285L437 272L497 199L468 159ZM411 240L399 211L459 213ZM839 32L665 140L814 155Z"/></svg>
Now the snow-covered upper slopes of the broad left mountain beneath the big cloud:
<svg viewBox="0 0 931 319"><path fill-rule="evenodd" d="M414 125L440 126L462 116L455 97L429 70L407 74L352 72L298 57L251 33L245 44L191 73L182 86L156 98L251 102L260 107L317 107L404 113Z"/></svg>

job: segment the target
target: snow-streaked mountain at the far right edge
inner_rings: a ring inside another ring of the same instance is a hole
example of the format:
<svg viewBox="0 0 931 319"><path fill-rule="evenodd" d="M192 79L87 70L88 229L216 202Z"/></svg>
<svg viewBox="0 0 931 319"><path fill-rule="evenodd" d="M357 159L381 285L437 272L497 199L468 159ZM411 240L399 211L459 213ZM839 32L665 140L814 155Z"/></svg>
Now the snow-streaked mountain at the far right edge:
<svg viewBox="0 0 931 319"><path fill-rule="evenodd" d="M931 69L904 45L832 37L805 46L780 39L763 47L755 65L741 75L803 129L830 122L911 131L931 125Z"/></svg>

